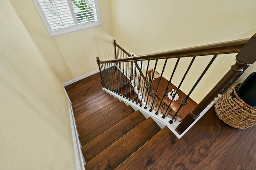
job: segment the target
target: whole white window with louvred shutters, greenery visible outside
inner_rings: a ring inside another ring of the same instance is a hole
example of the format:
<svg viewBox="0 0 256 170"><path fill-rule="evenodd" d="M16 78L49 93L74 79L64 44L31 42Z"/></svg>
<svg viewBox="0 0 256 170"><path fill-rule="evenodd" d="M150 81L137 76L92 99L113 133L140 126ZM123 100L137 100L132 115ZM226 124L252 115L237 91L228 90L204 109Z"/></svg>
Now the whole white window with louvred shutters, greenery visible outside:
<svg viewBox="0 0 256 170"><path fill-rule="evenodd" d="M51 36L100 25L97 0L33 0Z"/></svg>

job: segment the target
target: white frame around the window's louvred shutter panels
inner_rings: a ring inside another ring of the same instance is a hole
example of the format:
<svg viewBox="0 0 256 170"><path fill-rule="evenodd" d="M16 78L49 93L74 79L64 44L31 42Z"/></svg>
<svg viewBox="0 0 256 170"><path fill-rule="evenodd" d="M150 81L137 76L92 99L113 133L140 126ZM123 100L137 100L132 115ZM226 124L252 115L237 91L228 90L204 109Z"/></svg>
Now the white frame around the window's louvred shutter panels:
<svg viewBox="0 0 256 170"><path fill-rule="evenodd" d="M46 16L38 2L38 0L33 0L36 9L38 11L38 13L40 14L40 17L42 18L42 21L44 22L44 25L46 27L46 29L48 30L50 36L55 36L55 35L61 35L64 33L69 33L69 32L73 32L73 31L78 31L81 29L86 29L86 28L91 28L91 27L96 27L101 25L101 21L100 21L100 12L99 12L99 8L98 8L98 0L94 0L94 4L95 4L95 10L96 10L96 15L97 15L97 20L98 21L94 21L94 22L89 22L89 23L85 23L85 24L78 24L78 21L76 19L76 14L74 12L73 6L72 6L72 2L71 0L67 0L68 5L69 5L69 9L70 12L72 14L72 18L74 20L74 26L73 27L67 27L67 28L63 28L63 29L57 29L57 30L52 30L52 28L50 27L50 24L48 23Z"/></svg>

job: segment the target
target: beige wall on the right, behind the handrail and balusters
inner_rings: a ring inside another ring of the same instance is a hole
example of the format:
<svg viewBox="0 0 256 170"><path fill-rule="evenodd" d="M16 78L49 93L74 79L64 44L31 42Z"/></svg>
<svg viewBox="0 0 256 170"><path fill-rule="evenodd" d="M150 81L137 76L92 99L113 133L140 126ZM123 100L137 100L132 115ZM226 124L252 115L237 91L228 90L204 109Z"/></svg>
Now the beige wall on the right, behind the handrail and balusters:
<svg viewBox="0 0 256 170"><path fill-rule="evenodd" d="M249 38L256 33L255 0L110 0L113 37L136 55ZM219 56L191 97L200 102L234 64L235 55ZM173 83L178 86L191 59L182 59ZM190 91L210 58L198 57L181 89ZM168 61L168 78L175 61ZM163 65L164 61L159 62ZM150 64L152 66L152 64ZM256 71L256 63L246 75ZM153 67L153 66L152 66Z"/></svg>

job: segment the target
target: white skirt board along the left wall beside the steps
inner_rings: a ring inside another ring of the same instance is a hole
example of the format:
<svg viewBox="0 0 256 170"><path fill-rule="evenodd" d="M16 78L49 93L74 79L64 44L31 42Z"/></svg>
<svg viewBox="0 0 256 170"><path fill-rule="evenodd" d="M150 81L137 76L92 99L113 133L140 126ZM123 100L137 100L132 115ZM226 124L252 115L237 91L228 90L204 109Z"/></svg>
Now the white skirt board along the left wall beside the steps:
<svg viewBox="0 0 256 170"><path fill-rule="evenodd" d="M73 136L73 142L74 142L74 151L76 156L76 168L77 170L85 170L84 165L86 164L86 162L82 154L80 141L78 139L78 133L76 131L76 123L73 115L72 105L69 101L68 101L68 108L70 112L71 129L72 129L72 136Z"/></svg>

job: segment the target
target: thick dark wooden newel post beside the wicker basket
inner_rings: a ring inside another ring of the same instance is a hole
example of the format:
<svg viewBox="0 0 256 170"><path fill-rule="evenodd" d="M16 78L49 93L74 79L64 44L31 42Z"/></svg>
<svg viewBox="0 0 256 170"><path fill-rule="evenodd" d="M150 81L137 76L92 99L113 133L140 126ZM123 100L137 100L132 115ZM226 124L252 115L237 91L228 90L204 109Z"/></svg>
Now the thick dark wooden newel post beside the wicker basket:
<svg viewBox="0 0 256 170"><path fill-rule="evenodd" d="M241 74L256 61L256 34L244 45L241 51L236 55L236 63L231 66L230 70L214 86L214 88L205 96L205 98L183 119L175 129L182 134L200 115L212 100L221 92L224 92Z"/></svg>

